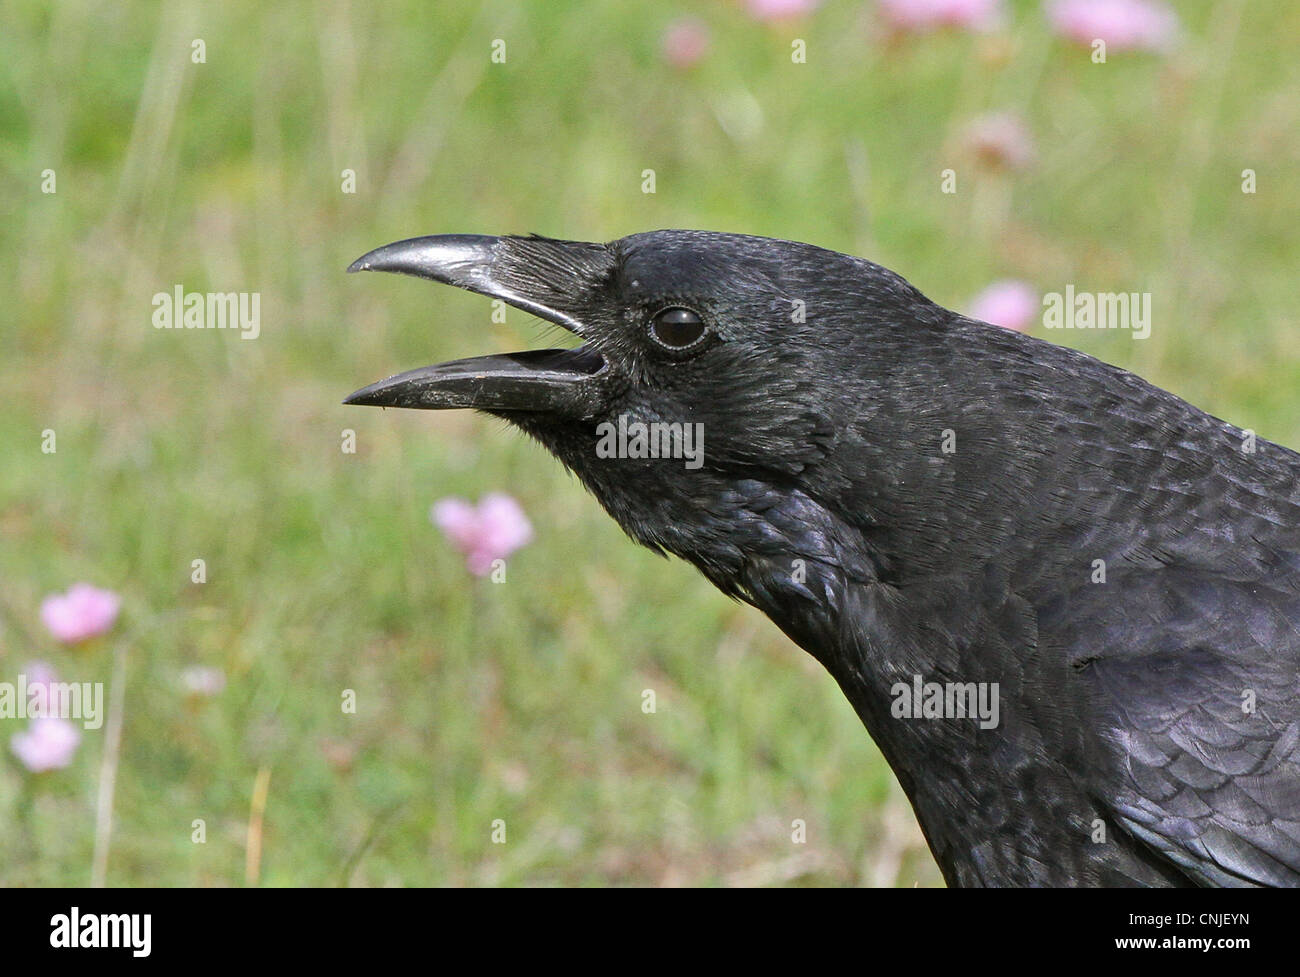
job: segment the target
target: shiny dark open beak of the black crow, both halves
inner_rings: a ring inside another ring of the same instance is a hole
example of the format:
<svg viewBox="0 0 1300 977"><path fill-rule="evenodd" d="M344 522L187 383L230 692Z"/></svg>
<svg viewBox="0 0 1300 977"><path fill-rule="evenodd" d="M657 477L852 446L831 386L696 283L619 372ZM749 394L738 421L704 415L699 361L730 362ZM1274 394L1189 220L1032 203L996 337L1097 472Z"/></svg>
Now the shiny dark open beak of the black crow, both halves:
<svg viewBox="0 0 1300 977"><path fill-rule="evenodd" d="M545 238L439 234L386 244L348 272L395 272L500 299L584 335L575 301L606 260L599 244ZM568 301L566 301L568 300ZM590 344L476 356L399 373L358 390L344 404L420 409L547 411L584 416L603 401L608 373Z"/></svg>

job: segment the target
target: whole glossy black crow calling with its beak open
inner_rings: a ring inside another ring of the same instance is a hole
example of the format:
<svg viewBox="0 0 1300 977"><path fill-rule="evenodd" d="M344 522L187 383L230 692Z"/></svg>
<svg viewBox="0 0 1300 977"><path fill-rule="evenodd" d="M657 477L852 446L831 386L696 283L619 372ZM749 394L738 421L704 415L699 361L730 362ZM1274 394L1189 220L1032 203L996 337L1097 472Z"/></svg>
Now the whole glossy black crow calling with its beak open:
<svg viewBox="0 0 1300 977"><path fill-rule="evenodd" d="M1300 455L810 244L434 235L348 270L577 335L344 403L506 418L766 613L950 886L1300 885Z"/></svg>

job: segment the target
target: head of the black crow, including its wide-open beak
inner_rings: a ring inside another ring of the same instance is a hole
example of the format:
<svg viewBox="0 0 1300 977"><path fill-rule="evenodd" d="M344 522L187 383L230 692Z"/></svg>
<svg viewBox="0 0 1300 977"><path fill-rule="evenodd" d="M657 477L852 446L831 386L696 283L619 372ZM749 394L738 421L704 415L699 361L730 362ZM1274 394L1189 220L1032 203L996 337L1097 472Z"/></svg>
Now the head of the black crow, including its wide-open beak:
<svg viewBox="0 0 1300 977"><path fill-rule="evenodd" d="M871 466L852 447L871 440L878 412L909 422L932 399L927 330L937 336L953 318L862 259L706 231L608 244L437 235L378 248L348 270L494 296L582 344L424 366L346 403L503 417L633 538L750 599L745 566L758 556L849 560L824 552L852 538L828 525L827 494Z"/></svg>

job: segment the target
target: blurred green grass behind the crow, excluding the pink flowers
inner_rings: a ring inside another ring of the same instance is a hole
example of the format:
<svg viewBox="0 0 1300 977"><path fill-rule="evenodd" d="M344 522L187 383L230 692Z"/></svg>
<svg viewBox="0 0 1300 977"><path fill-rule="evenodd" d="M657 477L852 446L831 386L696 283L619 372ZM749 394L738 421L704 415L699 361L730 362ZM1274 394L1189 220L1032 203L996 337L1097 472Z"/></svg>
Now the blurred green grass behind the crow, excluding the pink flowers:
<svg viewBox="0 0 1300 977"><path fill-rule="evenodd" d="M1300 6L1178 10L1170 55L1095 65L1037 3L915 38L840 0L775 26L722 1L0 4L0 678L112 683L125 652L105 881L941 883L833 682L757 612L498 422L339 405L541 324L343 269L416 234L707 227L863 255L954 308L1004 277L1150 291L1148 340L1048 338L1300 446ZM684 14L711 38L689 70L660 51ZM1037 144L1014 173L959 148L1002 110ZM155 330L178 283L259 291L261 336ZM428 517L491 490L537 527L504 585ZM125 608L62 648L38 608L79 579ZM225 690L187 695L194 664ZM17 729L0 883L86 885L105 731L32 776Z"/></svg>

